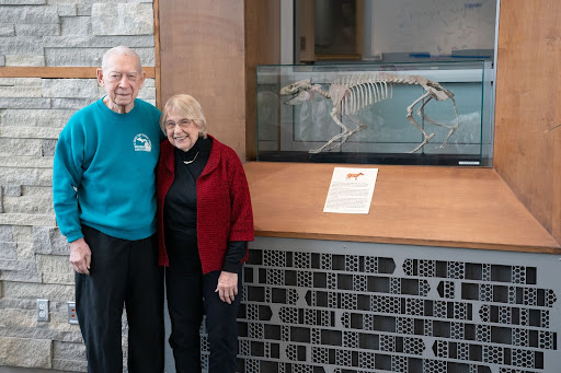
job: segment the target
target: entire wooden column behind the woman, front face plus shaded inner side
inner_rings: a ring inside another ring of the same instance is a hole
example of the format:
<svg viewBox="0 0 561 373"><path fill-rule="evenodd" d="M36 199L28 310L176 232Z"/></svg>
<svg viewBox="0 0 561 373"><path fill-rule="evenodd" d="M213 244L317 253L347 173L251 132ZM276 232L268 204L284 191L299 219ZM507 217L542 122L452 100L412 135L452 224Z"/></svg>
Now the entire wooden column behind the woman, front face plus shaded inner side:
<svg viewBox="0 0 561 373"><path fill-rule="evenodd" d="M188 93L209 133L256 154L257 65L280 62L280 0L159 1L161 103Z"/></svg>

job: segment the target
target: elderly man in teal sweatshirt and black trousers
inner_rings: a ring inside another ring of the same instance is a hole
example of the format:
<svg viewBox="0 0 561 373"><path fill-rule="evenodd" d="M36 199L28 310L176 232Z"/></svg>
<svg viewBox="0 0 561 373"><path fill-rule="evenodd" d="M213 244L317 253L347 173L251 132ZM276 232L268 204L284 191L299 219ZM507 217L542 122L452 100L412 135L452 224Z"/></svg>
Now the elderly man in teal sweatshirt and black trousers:
<svg viewBox="0 0 561 373"><path fill-rule="evenodd" d="M98 69L106 95L70 118L55 152L55 212L70 243L88 372L123 372L124 305L128 371L163 371L154 187L163 133L160 110L136 98L145 78L134 50L107 50Z"/></svg>

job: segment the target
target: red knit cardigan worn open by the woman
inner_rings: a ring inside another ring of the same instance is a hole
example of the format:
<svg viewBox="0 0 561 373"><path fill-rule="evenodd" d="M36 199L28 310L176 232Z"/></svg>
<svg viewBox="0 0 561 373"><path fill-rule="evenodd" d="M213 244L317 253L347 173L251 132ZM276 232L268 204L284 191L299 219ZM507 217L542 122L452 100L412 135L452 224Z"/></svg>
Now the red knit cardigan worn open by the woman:
<svg viewBox="0 0 561 373"><path fill-rule="evenodd" d="M209 136L213 148L197 179L197 243L203 273L221 270L229 241L253 241L253 212L245 173L236 152ZM163 202L175 177L174 147L160 144L157 170L159 264L169 266ZM242 261L245 261L245 258Z"/></svg>

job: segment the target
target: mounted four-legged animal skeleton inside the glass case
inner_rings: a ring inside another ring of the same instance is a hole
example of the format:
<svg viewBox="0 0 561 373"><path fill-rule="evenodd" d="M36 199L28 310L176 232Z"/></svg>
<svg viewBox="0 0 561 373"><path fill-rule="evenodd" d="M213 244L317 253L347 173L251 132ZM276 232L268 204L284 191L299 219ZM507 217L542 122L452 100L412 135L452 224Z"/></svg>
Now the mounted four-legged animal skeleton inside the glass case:
<svg viewBox="0 0 561 373"><path fill-rule="evenodd" d="M423 133L423 141L409 153L416 152L434 137L434 133L426 133L425 130L416 123L415 118L413 118L413 107L421 102L422 104L416 110L417 115L422 119L435 126L444 127L449 130L446 139L444 139L444 142L439 145L439 148L446 147L448 139L459 127L458 109L456 107L456 101L454 100L454 93L443 88L437 82L420 75L400 75L387 72L373 72L367 74L351 75L335 80L330 84L328 91L323 91L320 84L312 85L310 78L286 85L280 90L279 93L282 96L296 95L285 103L287 105L299 105L310 101L313 98L314 93L318 93L328 100L331 98L333 103L331 117L335 124L337 124L337 126L343 129L343 131L331 138L331 140L323 144L323 147L309 151L310 153L319 153L325 148L330 147L333 141L339 139L341 139L341 142L336 143L334 147L329 148L328 151L341 147L351 136L365 129L366 125L360 123L360 120L358 120L355 115L370 105L387 98L391 98L393 93L393 84L416 84L421 85L425 91L424 94L416 98L407 108L407 119ZM433 98L436 101L446 101L450 98L453 101L454 112L456 113L456 124L454 126L447 126L445 124L438 123L425 115L424 107ZM354 124L356 124L356 128L351 130L348 127L346 127L342 121L343 116L347 117Z"/></svg>

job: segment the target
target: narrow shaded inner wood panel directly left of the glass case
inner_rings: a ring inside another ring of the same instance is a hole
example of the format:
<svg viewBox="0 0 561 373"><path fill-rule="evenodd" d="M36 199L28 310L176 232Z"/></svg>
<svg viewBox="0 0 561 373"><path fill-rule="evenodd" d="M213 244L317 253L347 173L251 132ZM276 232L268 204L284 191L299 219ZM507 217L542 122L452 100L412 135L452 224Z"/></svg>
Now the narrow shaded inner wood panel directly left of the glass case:
<svg viewBox="0 0 561 373"><path fill-rule="evenodd" d="M280 0L245 0L245 150L256 159L256 66L280 63Z"/></svg>

